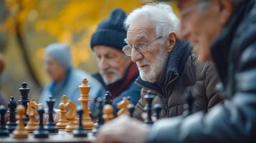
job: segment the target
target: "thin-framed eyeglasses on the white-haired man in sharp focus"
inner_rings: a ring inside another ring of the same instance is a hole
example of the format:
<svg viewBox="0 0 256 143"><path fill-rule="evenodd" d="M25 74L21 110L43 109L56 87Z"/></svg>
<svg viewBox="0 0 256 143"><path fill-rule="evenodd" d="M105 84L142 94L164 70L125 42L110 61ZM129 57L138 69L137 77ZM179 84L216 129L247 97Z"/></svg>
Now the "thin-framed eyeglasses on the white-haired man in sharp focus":
<svg viewBox="0 0 256 143"><path fill-rule="evenodd" d="M148 50L148 45L151 44L153 41L156 41L158 39L161 39L163 36L158 36L156 39L153 39L152 41L148 41L148 43L138 43L134 46L126 45L123 46L123 52L126 56L131 56L132 49L136 49L136 51L143 53Z"/></svg>

